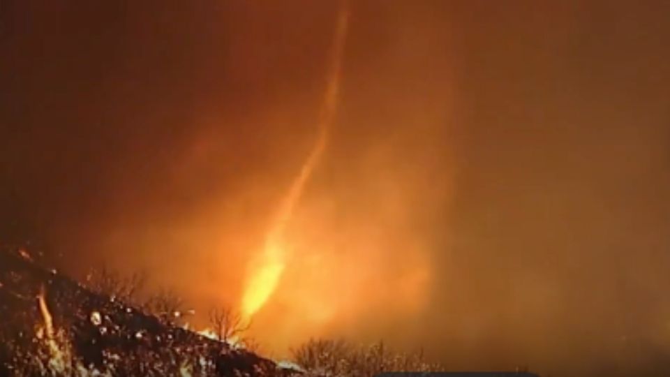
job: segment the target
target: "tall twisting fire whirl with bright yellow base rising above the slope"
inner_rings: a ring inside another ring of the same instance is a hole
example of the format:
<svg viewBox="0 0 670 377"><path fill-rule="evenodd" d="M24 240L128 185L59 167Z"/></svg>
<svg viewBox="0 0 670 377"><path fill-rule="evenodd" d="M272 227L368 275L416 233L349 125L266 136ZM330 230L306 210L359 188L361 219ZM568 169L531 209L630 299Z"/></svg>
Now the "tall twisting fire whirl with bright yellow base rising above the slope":
<svg viewBox="0 0 670 377"><path fill-rule="evenodd" d="M285 229L292 218L293 211L298 200L300 200L307 180L323 154L328 138L328 129L335 117L347 23L348 10L345 6L342 6L336 24L331 52L331 66L327 73L325 95L318 118L318 136L311 153L307 156L299 174L293 180L287 195L278 208L276 219L265 237L264 248L251 265L241 302L242 314L247 319L250 319L267 302L283 274L286 260Z"/></svg>

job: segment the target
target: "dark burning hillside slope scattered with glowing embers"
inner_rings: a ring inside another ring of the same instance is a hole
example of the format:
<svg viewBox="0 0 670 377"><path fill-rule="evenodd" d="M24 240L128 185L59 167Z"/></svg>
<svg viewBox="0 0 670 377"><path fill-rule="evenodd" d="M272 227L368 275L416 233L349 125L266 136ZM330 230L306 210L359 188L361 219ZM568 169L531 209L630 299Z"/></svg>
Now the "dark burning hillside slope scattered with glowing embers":
<svg viewBox="0 0 670 377"><path fill-rule="evenodd" d="M0 376L286 374L271 360L165 325L0 251Z"/></svg>

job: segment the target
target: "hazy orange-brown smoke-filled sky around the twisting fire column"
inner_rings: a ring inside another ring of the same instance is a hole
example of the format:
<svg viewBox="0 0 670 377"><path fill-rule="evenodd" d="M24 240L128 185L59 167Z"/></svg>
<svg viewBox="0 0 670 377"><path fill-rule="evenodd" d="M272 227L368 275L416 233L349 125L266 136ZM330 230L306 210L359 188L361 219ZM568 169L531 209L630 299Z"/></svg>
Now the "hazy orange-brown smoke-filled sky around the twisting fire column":
<svg viewBox="0 0 670 377"><path fill-rule="evenodd" d="M388 300L325 333L454 369L667 368L669 4L349 8L338 119L296 221L355 239L344 260L374 239L360 261L387 281L416 255L431 277L411 316ZM144 265L193 302L237 295L315 137L337 11L0 1L1 237L75 275Z"/></svg>

